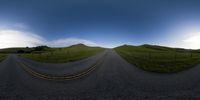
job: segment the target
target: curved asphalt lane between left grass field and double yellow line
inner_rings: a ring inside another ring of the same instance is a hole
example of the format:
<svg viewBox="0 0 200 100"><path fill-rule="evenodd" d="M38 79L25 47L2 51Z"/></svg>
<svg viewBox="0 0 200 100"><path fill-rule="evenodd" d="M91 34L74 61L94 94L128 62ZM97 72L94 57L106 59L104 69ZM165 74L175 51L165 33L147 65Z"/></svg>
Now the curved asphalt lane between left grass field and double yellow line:
<svg viewBox="0 0 200 100"><path fill-rule="evenodd" d="M105 53L106 51L83 60L60 64L41 63L22 57L17 59L19 62L28 65L29 68L36 70L39 73L62 76L79 73L84 69L88 69L89 67L95 65L97 62L100 62Z"/></svg>

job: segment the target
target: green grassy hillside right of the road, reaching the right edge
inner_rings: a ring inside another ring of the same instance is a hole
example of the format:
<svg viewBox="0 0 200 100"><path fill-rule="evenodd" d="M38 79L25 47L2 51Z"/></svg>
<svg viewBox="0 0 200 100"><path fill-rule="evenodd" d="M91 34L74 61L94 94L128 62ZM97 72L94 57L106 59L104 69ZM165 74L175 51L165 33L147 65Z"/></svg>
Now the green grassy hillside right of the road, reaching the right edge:
<svg viewBox="0 0 200 100"><path fill-rule="evenodd" d="M186 70L200 62L197 51L162 46L130 46L115 48L131 64L146 71L172 73Z"/></svg>

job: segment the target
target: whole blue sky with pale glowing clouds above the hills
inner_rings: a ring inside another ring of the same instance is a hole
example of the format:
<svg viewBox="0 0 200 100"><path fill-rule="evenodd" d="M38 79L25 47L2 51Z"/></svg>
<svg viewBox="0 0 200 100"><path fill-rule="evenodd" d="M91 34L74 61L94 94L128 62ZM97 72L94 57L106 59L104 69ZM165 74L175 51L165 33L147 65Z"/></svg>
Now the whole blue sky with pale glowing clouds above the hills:
<svg viewBox="0 0 200 100"><path fill-rule="evenodd" d="M87 41L104 47L156 44L197 49L199 27L199 0L0 0L0 38L9 40L0 41L2 47L25 46L16 42L26 40L27 46ZM5 34L25 38L13 40Z"/></svg>

